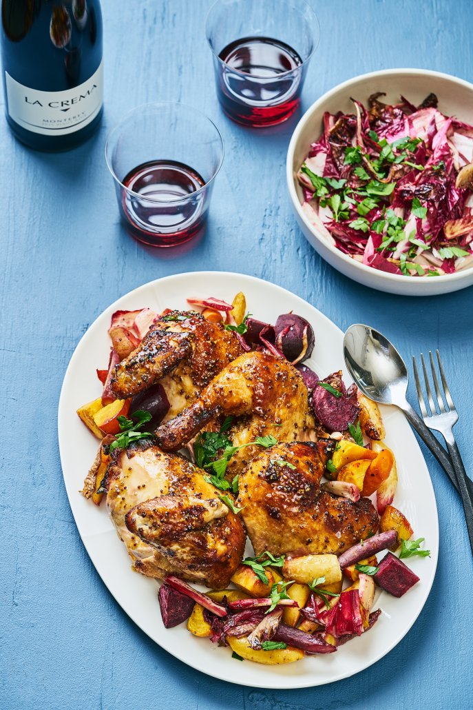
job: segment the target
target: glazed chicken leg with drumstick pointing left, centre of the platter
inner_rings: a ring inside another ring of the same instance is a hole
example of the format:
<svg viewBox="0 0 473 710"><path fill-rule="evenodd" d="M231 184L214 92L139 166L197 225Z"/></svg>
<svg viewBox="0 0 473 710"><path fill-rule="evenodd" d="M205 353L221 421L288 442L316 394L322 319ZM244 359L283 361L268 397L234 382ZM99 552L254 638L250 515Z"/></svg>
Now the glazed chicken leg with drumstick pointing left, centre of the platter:
<svg viewBox="0 0 473 710"><path fill-rule="evenodd" d="M194 404L160 425L157 442L166 451L177 451L218 415L238 417L228 430L234 446L266 435L279 442L303 439L311 418L307 388L296 368L283 358L248 352L218 373ZM231 480L260 452L257 445L236 452L227 478Z"/></svg>

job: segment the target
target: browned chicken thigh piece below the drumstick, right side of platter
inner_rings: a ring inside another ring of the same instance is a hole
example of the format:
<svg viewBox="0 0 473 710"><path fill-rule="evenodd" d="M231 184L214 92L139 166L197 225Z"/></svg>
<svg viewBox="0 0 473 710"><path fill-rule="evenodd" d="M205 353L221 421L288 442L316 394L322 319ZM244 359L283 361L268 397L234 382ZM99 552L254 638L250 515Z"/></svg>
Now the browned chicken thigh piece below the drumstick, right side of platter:
<svg viewBox="0 0 473 710"><path fill-rule="evenodd" d="M369 498L352 503L320 490L325 459L322 442L277 444L240 474L238 506L255 555L338 555L377 532Z"/></svg>

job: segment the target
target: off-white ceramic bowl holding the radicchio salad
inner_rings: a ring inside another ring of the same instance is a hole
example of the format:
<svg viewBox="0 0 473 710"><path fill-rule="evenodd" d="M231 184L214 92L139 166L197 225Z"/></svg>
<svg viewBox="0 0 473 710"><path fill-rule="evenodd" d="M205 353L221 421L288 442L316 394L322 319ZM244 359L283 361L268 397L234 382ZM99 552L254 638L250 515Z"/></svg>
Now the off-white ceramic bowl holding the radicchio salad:
<svg viewBox="0 0 473 710"><path fill-rule="evenodd" d="M473 268L433 278L409 278L365 266L330 244L314 229L301 209L302 191L295 175L308 154L309 146L321 135L324 111L350 113L353 111L350 97L366 103L369 94L377 91L386 92L383 100L388 103L398 102L400 94L403 94L413 104L421 103L433 92L438 96L438 108L443 114L455 114L460 120L473 124L473 84L448 74L423 69L386 69L338 84L306 111L289 143L286 177L299 226L306 239L330 266L365 286L409 296L437 295L470 286L473 284Z"/></svg>

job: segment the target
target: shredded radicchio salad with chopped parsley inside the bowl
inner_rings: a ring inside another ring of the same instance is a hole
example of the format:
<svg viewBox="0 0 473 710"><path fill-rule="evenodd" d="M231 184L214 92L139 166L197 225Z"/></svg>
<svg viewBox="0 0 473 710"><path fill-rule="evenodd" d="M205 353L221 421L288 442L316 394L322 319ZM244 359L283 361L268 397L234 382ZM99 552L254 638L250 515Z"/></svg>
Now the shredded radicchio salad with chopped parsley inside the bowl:
<svg viewBox="0 0 473 710"><path fill-rule="evenodd" d="M425 277L473 266L473 126L372 94L354 114L325 112L297 174L311 224L355 261Z"/></svg>

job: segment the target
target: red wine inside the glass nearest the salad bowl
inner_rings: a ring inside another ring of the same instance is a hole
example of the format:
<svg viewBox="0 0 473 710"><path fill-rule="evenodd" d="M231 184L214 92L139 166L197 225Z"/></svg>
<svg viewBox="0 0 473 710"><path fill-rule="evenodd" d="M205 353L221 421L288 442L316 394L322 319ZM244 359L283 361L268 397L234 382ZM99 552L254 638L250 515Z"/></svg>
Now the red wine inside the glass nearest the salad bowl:
<svg viewBox="0 0 473 710"><path fill-rule="evenodd" d="M219 65L218 99L231 119L246 126L272 126L294 114L302 87L296 50L257 36L235 40L218 56L224 62Z"/></svg>

